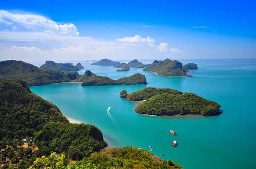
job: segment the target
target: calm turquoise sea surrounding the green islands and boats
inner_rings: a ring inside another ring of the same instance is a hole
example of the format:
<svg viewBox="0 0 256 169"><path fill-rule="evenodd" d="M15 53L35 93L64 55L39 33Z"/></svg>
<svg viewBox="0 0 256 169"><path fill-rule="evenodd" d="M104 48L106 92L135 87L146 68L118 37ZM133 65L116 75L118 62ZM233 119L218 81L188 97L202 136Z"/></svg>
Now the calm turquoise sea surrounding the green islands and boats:
<svg viewBox="0 0 256 169"><path fill-rule="evenodd" d="M142 73L148 85L55 84L30 89L57 105L67 117L99 127L109 146L137 146L148 151L148 146L152 146L152 153L186 169L256 168L256 59L179 61L183 65L198 64L198 70L190 72L194 77L163 77L139 68L116 72L112 66L81 62L85 68L79 74L91 70L99 76L119 79ZM131 93L149 86L195 93L218 102L225 113L198 119L149 117L134 113L135 105L119 97L123 89ZM178 135L171 135L169 130ZM173 140L177 147L171 145Z"/></svg>

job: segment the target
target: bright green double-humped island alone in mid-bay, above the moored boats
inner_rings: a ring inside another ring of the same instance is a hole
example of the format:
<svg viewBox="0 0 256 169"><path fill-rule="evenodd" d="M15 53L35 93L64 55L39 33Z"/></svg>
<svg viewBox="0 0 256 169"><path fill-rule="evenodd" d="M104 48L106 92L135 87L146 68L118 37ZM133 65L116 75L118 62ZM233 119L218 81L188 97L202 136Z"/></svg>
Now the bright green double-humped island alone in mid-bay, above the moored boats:
<svg viewBox="0 0 256 169"><path fill-rule="evenodd" d="M182 93L169 88L146 87L131 94L122 90L120 97L128 101L145 100L136 107L135 112L148 115L219 115L221 107L220 104L196 94Z"/></svg>

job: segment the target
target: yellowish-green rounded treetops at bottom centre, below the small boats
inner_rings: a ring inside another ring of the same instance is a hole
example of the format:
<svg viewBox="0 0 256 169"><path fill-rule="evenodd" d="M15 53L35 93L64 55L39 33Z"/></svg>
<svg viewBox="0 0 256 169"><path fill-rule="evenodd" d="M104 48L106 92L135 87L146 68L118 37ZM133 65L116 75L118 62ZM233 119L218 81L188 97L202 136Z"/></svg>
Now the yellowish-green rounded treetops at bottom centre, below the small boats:
<svg viewBox="0 0 256 169"><path fill-rule="evenodd" d="M99 165L99 169L182 169L178 163L161 160L147 150L129 146L105 148L83 161Z"/></svg>

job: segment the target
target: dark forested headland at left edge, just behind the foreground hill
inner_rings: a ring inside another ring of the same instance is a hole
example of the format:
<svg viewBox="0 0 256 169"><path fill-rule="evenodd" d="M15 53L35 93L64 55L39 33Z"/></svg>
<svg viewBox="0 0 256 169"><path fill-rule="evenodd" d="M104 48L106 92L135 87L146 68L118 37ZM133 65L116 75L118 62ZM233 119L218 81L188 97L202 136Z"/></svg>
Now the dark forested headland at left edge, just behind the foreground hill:
<svg viewBox="0 0 256 169"><path fill-rule="evenodd" d="M34 65L16 60L0 62L0 80L3 79L23 80L29 86L69 82L71 80L68 76L65 76L65 73L63 72L41 70Z"/></svg>

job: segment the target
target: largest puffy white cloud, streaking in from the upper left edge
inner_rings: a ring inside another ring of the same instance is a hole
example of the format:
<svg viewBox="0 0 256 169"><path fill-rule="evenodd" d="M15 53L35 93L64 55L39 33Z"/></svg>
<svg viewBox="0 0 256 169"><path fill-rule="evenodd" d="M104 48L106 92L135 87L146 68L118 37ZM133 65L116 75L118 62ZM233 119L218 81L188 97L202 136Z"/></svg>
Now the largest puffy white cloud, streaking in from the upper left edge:
<svg viewBox="0 0 256 169"><path fill-rule="evenodd" d="M26 28L33 31L52 30L55 33L69 36L79 35L79 31L72 23L58 24L55 21L49 20L44 16L40 16L37 14L19 14L14 11L0 10L0 25L13 25L20 29Z"/></svg>

